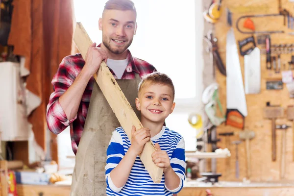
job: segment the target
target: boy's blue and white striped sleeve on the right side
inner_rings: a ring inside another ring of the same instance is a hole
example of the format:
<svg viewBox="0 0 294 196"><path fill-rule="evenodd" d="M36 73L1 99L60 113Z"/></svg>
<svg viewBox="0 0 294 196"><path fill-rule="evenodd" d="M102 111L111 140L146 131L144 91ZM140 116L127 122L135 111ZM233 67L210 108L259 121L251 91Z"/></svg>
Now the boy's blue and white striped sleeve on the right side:
<svg viewBox="0 0 294 196"><path fill-rule="evenodd" d="M167 188L168 191L170 191L173 194L179 193L183 186L184 186L184 181L186 178L185 175L185 170L186 170L186 158L185 158L185 141L184 138L182 138L176 148L172 152L172 157L171 157L171 166L173 171L179 176L180 178L180 184L178 188L174 190L170 190Z"/></svg>

